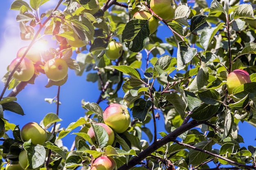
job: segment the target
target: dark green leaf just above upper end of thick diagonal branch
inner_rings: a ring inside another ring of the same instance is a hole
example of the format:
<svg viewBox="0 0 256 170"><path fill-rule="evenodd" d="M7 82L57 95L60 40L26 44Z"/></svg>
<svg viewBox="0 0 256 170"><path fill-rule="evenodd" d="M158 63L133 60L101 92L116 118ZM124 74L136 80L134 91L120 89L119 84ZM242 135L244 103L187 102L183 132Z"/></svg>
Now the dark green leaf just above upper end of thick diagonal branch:
<svg viewBox="0 0 256 170"><path fill-rule="evenodd" d="M198 121L204 121L210 119L217 113L219 105L210 105L203 103L201 106L195 109L190 115L193 119Z"/></svg>

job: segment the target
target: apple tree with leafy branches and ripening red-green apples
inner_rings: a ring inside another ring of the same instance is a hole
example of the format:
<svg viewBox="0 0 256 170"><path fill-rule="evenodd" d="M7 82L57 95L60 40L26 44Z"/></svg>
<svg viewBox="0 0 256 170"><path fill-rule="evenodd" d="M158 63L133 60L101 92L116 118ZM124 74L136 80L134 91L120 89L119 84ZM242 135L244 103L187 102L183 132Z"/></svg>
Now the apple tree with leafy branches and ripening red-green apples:
<svg viewBox="0 0 256 170"><path fill-rule="evenodd" d="M58 0L39 13L47 1L10 7L30 44L2 79L1 170L256 169L256 146L241 147L238 131L241 121L256 127L254 0ZM42 35L58 46L38 54L33 44ZM82 101L84 117L62 127L58 98L68 69L87 72L100 95ZM5 110L24 115L16 97L43 74L45 88L58 86L49 101L56 114L22 131ZM59 141L71 133L68 150Z"/></svg>

